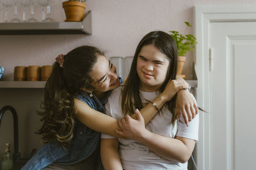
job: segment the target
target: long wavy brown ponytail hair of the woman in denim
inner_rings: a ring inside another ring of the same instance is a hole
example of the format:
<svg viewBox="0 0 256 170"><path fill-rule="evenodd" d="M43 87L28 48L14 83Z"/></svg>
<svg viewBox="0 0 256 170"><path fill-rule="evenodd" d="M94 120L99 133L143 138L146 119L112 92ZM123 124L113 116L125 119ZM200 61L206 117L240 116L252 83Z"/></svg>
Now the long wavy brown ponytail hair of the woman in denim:
<svg viewBox="0 0 256 170"><path fill-rule="evenodd" d="M38 111L44 124L36 133L43 135L44 143L55 139L63 147L70 143L76 118L74 97L81 89L92 89L89 73L98 55L104 53L93 46L79 46L64 56L63 67L54 62L45 84L44 111Z"/></svg>

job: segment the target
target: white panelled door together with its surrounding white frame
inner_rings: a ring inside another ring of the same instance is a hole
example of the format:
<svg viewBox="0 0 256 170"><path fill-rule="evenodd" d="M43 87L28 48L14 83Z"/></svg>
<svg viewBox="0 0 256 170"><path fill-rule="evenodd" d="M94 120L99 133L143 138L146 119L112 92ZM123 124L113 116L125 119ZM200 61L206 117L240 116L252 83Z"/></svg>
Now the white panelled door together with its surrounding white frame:
<svg viewBox="0 0 256 170"><path fill-rule="evenodd" d="M256 169L256 6L196 6L199 169Z"/></svg>

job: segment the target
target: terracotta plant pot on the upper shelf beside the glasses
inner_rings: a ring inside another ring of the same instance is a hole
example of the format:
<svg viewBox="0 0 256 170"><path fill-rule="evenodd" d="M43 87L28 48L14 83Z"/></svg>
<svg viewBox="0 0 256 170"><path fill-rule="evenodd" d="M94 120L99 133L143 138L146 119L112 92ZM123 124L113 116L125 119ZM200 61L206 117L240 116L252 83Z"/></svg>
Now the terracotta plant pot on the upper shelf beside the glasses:
<svg viewBox="0 0 256 170"><path fill-rule="evenodd" d="M82 20L86 4L79 1L65 1L62 3L65 11L65 22L79 22Z"/></svg>

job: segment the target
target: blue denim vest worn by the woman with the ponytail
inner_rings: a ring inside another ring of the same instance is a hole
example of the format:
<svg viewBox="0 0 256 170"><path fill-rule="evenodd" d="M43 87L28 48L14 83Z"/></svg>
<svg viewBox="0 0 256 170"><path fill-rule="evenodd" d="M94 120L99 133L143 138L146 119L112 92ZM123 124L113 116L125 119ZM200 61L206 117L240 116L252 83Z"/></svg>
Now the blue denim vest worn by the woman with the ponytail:
<svg viewBox="0 0 256 170"><path fill-rule="evenodd" d="M120 81L122 82L122 78ZM110 94L111 91L106 92L106 97L99 101L95 95L90 97L87 92L81 92L81 94L77 96L77 99L84 101L84 103L88 104L94 110L105 113L102 104L108 101ZM66 165L76 164L89 157L100 143L100 132L93 131L78 120L75 121L73 135L70 145L65 149L62 148L57 141L43 145L38 152L29 159L27 164L22 167L22 170L42 169L53 163Z"/></svg>

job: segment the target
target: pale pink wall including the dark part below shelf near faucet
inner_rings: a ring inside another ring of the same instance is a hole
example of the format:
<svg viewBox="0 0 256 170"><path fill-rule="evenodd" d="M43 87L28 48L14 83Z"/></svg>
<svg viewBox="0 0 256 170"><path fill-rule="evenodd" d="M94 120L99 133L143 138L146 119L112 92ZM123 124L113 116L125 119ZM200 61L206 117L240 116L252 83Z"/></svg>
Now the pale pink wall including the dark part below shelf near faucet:
<svg viewBox="0 0 256 170"><path fill-rule="evenodd" d="M61 0L52 4L52 17L65 20ZM184 22L193 22L193 6L207 4L252 4L255 0L87 0L86 10L92 10L92 35L18 35L0 36L0 66L5 73L3 80L13 80L15 66L51 65L59 53L67 53L76 46L93 45L107 51L107 57L134 55L140 39L150 31L184 32ZM1 8L1 7L0 7ZM21 9L20 9L21 10ZM22 13L19 10L19 18ZM12 10L10 11L12 12ZM3 22L3 11L0 21ZM36 6L36 17L40 18L40 8ZM191 29L189 31L193 33ZM193 53L188 53L184 74L189 78L189 62ZM16 97L19 94L20 97ZM41 90L0 89L0 108L6 104L15 106L19 114L20 152L28 157L32 148L40 146L40 136L33 134L40 127L36 117ZM33 98L34 96L34 98ZM22 102L20 102L22 101ZM24 116L26 115L26 116ZM31 115L31 117L29 116ZM10 117L4 118L0 128L0 153L4 143L12 141ZM6 131L8 129L8 131ZM35 139L35 141L32 141ZM12 143L12 142L11 142Z"/></svg>

